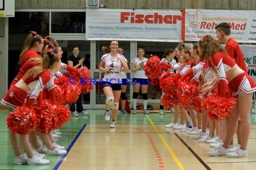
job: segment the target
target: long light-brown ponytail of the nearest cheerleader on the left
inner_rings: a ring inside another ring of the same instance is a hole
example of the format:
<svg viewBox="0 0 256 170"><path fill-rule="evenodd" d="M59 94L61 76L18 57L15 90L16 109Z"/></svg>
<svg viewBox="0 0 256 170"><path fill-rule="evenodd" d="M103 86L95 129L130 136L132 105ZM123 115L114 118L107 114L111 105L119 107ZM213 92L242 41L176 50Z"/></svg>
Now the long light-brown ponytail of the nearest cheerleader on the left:
<svg viewBox="0 0 256 170"><path fill-rule="evenodd" d="M59 62L60 58L55 53L44 53L43 55L43 65L42 66L35 66L28 70L25 74L25 80L30 76L38 76L45 69L52 68L53 64Z"/></svg>

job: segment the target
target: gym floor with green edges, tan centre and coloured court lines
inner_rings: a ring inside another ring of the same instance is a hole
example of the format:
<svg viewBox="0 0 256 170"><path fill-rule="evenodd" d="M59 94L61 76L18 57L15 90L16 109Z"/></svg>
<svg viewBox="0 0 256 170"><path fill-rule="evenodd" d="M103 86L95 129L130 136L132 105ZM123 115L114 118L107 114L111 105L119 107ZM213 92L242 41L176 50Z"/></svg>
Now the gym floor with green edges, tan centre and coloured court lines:
<svg viewBox="0 0 256 170"><path fill-rule="evenodd" d="M5 123L7 110L0 110L0 170L254 170L256 167L256 115L251 114L248 157L210 157L206 143L191 135L165 128L173 119L166 110L145 115L121 115L116 128L109 128L104 110L87 110L60 128L57 143L64 156L47 156L49 165L14 165ZM234 143L236 144L236 137Z"/></svg>

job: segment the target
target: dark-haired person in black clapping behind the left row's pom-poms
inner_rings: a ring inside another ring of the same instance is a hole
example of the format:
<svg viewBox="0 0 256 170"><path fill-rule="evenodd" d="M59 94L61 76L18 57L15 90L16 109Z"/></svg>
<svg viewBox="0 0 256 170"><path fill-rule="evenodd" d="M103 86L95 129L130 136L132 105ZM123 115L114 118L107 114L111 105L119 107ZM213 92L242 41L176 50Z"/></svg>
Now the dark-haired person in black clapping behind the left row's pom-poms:
<svg viewBox="0 0 256 170"><path fill-rule="evenodd" d="M83 67L84 58L78 56L79 48L77 46L72 48L73 55L69 56L67 59L68 65L74 68ZM76 101L76 110L75 110L75 103L72 103L70 106L71 116L79 116L79 115L86 115L87 112L84 111L82 105L82 94L79 94L79 98Z"/></svg>

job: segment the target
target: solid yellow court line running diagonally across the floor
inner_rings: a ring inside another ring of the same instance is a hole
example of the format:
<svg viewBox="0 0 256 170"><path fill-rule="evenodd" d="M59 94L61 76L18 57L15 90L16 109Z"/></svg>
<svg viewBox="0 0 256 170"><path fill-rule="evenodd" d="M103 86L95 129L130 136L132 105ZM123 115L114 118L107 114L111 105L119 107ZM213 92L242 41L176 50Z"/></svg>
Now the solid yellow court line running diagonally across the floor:
<svg viewBox="0 0 256 170"><path fill-rule="evenodd" d="M180 170L185 170L185 168L182 166L181 161L177 158L177 156L175 155L175 153L172 151L171 147L168 145L168 143L166 142L166 140L163 138L161 132L159 132L159 130L157 129L157 127L154 125L153 121L150 119L149 115L146 115L148 120L150 121L151 125L154 128L154 131L158 134L159 138L162 140L163 144L165 145L165 147L167 148L167 150L169 151L170 155L172 156L172 158L174 159L174 161L176 162L177 166L179 166Z"/></svg>

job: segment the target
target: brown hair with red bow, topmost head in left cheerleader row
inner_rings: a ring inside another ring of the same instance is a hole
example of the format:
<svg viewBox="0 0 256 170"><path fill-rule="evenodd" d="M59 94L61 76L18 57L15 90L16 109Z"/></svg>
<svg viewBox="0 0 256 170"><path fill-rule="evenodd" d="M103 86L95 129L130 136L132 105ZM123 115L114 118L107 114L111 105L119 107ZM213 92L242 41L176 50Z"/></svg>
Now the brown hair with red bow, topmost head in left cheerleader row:
<svg viewBox="0 0 256 170"><path fill-rule="evenodd" d="M20 59L19 63L21 62L21 59L23 55L26 53L26 51L32 48L36 42L41 42L41 39L42 39L42 36L38 34L33 34L33 33L28 34L28 36L26 37L24 46L22 47L22 52L19 55L19 59Z"/></svg>

